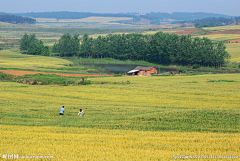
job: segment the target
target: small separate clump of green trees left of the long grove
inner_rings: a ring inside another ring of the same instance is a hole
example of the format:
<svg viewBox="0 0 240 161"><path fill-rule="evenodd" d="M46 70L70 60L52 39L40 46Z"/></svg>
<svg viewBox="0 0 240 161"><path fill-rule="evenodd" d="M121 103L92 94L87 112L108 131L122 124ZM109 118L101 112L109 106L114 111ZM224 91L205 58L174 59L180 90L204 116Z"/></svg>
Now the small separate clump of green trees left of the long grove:
<svg viewBox="0 0 240 161"><path fill-rule="evenodd" d="M30 55L49 56L49 47L44 46L41 40L36 38L35 34L24 34L20 40L20 50Z"/></svg>

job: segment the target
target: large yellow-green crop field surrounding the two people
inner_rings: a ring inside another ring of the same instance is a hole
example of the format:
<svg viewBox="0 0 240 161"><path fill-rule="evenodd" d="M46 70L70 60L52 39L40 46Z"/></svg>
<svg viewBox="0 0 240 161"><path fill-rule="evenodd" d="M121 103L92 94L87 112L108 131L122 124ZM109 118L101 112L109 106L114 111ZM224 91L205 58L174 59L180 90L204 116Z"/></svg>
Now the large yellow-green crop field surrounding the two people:
<svg viewBox="0 0 240 161"><path fill-rule="evenodd" d="M1 152L55 160L239 155L239 74L89 79L105 83L0 82Z"/></svg>

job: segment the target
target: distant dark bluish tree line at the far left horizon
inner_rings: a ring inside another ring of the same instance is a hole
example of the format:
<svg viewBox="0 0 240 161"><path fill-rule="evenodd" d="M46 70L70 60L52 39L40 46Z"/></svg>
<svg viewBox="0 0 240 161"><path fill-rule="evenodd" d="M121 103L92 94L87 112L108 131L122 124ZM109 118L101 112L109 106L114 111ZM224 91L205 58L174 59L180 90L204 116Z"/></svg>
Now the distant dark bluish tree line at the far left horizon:
<svg viewBox="0 0 240 161"><path fill-rule="evenodd" d="M36 20L33 18L9 15L9 14L0 14L0 21L7 22L7 23L13 23L13 24L18 24L18 23L35 24L36 23Z"/></svg>

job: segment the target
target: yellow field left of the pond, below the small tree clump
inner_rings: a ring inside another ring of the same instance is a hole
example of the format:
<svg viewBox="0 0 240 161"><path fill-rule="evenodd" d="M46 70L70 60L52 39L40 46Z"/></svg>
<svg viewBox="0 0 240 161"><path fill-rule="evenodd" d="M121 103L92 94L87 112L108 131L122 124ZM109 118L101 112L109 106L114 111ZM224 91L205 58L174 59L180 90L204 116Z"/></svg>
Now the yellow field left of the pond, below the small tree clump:
<svg viewBox="0 0 240 161"><path fill-rule="evenodd" d="M71 62L51 57L24 55L9 50L0 50L0 67L31 69L38 67L62 68Z"/></svg>

